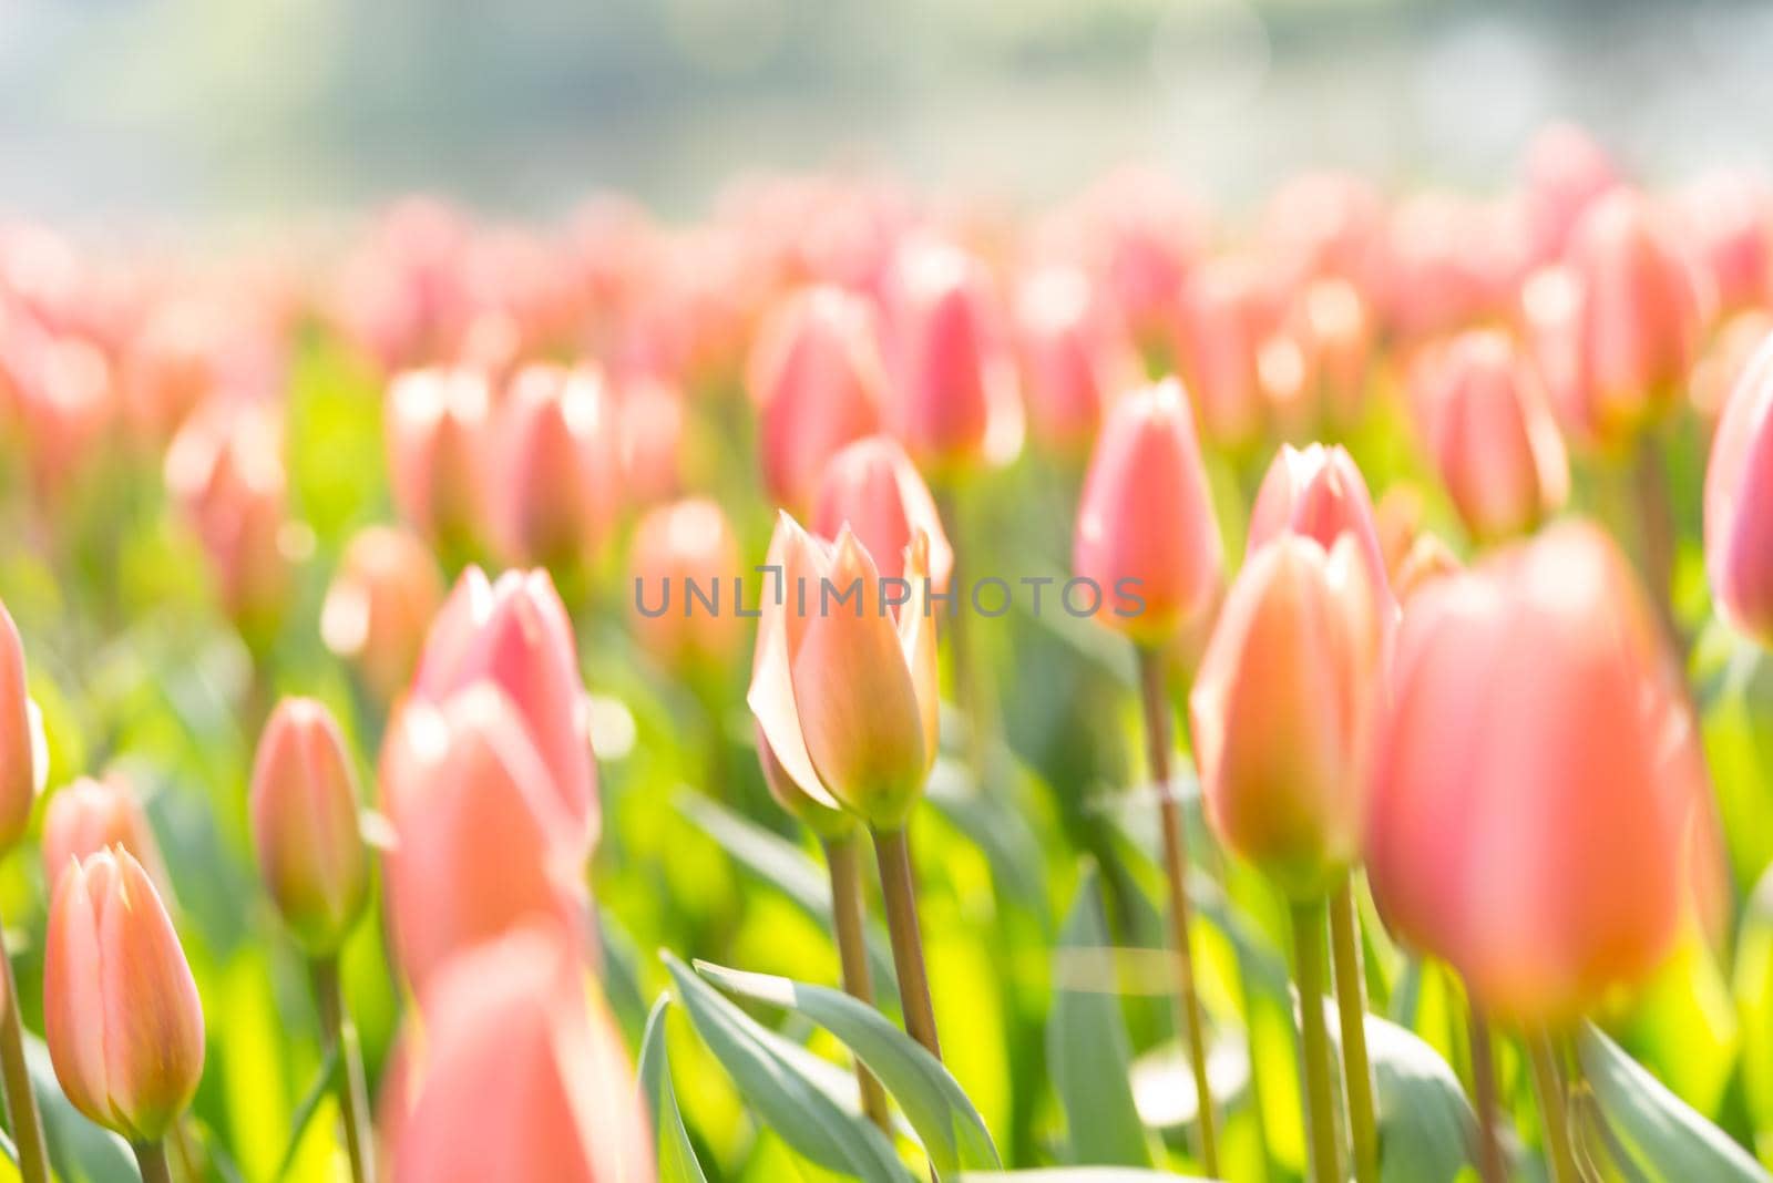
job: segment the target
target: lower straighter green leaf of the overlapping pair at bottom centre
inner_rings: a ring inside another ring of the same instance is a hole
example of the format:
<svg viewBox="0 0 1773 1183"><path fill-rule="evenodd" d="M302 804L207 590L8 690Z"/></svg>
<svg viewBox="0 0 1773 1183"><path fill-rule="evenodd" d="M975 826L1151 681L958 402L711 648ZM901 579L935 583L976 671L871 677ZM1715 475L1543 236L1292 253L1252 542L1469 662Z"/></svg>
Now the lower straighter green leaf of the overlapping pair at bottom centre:
<svg viewBox="0 0 1773 1183"><path fill-rule="evenodd" d="M904 1183L904 1165L886 1137L858 1114L844 1112L800 1066L775 1047L775 1036L729 1002L670 953L677 1001L757 1116L814 1164L867 1179Z"/></svg>

